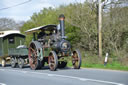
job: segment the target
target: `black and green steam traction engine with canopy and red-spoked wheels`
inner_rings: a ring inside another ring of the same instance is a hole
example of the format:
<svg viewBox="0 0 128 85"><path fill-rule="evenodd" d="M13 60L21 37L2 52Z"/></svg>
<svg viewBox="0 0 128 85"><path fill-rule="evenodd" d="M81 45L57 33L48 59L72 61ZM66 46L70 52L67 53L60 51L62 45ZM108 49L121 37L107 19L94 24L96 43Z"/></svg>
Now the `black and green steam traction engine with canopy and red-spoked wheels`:
<svg viewBox="0 0 128 85"><path fill-rule="evenodd" d="M75 69L80 69L81 54L78 50L71 51L71 45L64 33L64 19L64 15L60 15L58 26L46 25L26 31L27 34L33 34L28 55L31 69L40 69L46 62L50 70L55 71L66 67L69 59Z"/></svg>

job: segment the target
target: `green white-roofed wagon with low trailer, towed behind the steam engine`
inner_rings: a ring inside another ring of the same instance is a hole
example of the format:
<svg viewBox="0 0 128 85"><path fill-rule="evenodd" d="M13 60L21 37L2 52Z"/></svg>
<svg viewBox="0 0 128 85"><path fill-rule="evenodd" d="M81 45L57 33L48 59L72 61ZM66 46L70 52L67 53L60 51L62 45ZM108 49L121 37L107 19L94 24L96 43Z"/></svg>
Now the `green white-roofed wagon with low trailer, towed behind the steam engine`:
<svg viewBox="0 0 128 85"><path fill-rule="evenodd" d="M9 59L11 66L20 68L28 57L28 49L24 46L25 35L16 30L0 31L0 59L4 67Z"/></svg>

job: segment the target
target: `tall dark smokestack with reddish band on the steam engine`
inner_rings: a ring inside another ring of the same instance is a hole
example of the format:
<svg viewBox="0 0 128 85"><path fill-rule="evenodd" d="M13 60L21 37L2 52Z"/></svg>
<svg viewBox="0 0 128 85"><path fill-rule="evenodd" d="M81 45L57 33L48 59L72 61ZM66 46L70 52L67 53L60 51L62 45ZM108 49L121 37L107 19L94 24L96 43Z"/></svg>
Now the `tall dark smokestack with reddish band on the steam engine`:
<svg viewBox="0 0 128 85"><path fill-rule="evenodd" d="M65 19L65 16L63 14L61 14L59 16L59 21L60 21L60 30L61 30L61 37L64 39L65 38L65 33L64 33L64 29L65 29L65 26L64 26L64 19Z"/></svg>

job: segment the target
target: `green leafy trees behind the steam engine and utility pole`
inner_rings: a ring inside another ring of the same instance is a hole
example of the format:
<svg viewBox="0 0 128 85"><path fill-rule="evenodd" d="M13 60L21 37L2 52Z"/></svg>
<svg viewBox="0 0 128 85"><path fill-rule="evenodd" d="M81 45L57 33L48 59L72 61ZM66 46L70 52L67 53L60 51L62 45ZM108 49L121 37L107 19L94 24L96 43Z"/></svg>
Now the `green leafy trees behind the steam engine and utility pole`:
<svg viewBox="0 0 128 85"><path fill-rule="evenodd" d="M104 1L104 0L103 0ZM59 14L66 16L65 28L68 40L74 48L92 54L98 53L97 3L74 3L58 8L45 8L34 13L21 28L24 31L47 24L58 24ZM128 50L128 7L113 3L109 11L103 12L103 53L126 56ZM27 35L27 45L32 39ZM125 54L125 55L124 55Z"/></svg>

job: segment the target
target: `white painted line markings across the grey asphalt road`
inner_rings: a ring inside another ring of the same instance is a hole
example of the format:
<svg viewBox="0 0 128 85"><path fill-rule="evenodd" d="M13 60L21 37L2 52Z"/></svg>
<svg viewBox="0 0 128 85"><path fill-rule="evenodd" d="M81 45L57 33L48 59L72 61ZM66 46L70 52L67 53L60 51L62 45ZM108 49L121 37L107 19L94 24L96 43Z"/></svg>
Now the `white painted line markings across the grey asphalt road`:
<svg viewBox="0 0 128 85"><path fill-rule="evenodd" d="M49 74L49 73L40 73L40 72L31 72L31 71L29 72L29 71L13 70L13 69L0 69L0 70L2 70L2 71L9 70L9 71L21 72L21 73L42 74L42 75L47 75L49 77L62 77L62 78L77 79L80 81L93 81L93 82L113 84L113 85L124 85L124 84L116 83L116 82L102 81L102 80L88 79L88 78L81 78L81 77L74 77L74 76L67 76L67 75L59 75L59 74ZM0 85L1 85L1 83L0 83ZM2 85L6 85L6 84L2 84Z"/></svg>

